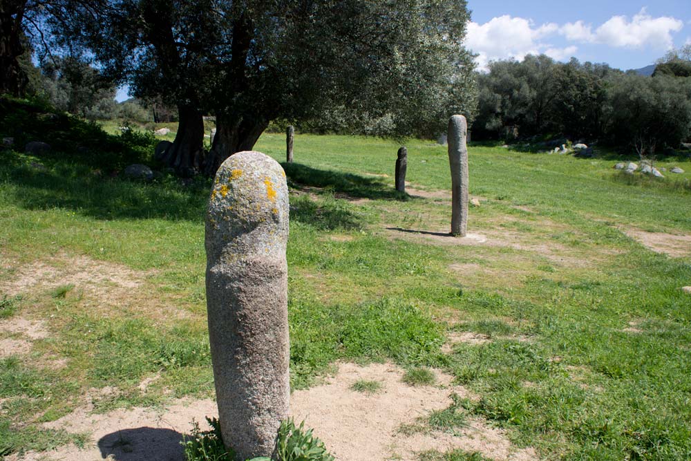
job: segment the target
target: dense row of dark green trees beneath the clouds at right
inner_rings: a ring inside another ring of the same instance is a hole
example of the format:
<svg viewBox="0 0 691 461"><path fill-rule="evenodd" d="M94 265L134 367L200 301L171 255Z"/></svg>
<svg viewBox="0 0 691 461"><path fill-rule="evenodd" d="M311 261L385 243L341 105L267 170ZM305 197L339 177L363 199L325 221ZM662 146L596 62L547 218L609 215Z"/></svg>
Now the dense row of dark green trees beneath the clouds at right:
<svg viewBox="0 0 691 461"><path fill-rule="evenodd" d="M560 134L634 147L641 156L676 148L691 138L689 57L685 48L671 53L653 77L545 55L493 62L489 73L477 76L473 137Z"/></svg>

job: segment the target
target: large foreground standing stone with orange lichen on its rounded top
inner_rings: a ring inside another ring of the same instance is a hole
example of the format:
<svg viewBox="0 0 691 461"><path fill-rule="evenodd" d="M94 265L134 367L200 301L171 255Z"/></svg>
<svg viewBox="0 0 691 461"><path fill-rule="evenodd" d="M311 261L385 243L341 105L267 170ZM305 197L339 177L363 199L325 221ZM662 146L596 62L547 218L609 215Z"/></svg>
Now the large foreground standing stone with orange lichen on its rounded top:
<svg viewBox="0 0 691 461"><path fill-rule="evenodd" d="M206 283L220 429L239 461L270 456L288 413L287 238L281 165L230 156L207 209Z"/></svg>

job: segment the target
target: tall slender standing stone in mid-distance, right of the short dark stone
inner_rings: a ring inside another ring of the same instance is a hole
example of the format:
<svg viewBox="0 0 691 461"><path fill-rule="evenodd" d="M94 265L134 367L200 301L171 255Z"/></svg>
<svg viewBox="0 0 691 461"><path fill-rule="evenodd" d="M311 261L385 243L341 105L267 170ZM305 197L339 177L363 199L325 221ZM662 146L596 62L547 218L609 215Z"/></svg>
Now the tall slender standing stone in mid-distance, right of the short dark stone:
<svg viewBox="0 0 691 461"><path fill-rule="evenodd" d="M468 227L468 124L463 115L448 120L448 163L451 166L451 234L466 236Z"/></svg>

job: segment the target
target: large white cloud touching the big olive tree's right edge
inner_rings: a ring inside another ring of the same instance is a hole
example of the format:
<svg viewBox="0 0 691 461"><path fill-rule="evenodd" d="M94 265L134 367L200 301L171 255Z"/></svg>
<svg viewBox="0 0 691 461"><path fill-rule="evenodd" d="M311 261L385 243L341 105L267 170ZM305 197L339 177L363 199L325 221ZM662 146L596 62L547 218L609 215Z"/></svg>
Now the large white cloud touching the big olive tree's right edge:
<svg viewBox="0 0 691 461"><path fill-rule="evenodd" d="M529 19L504 15L495 17L484 24L468 23L466 47L477 53L478 67L485 70L487 64L495 59L523 59L526 55L538 55L550 50L553 55L575 53L576 47L560 50L540 39L558 32L556 23L535 26Z"/></svg>

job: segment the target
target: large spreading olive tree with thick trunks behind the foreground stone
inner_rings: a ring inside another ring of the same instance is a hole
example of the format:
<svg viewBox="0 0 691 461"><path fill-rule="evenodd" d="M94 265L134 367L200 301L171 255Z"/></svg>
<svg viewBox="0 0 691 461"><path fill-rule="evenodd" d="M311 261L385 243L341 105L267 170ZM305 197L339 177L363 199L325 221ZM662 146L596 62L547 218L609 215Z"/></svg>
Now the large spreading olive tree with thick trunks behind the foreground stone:
<svg viewBox="0 0 691 461"><path fill-rule="evenodd" d="M176 107L180 125L164 160L181 172L213 174L231 153L251 149L272 120L339 120L378 126L380 135L433 135L448 115L469 115L475 106L472 55L462 46L465 1L2 5L0 21L19 23L24 35L34 30L34 46L91 58L101 75L129 84L136 97ZM17 57L17 50L0 54ZM21 79L10 77L2 89L17 93ZM202 151L202 114L216 116L209 153Z"/></svg>

